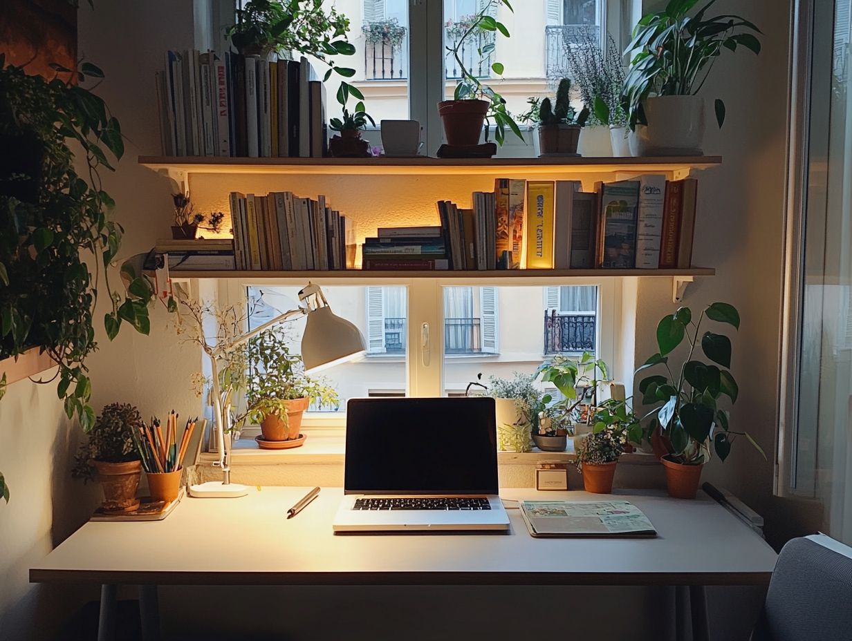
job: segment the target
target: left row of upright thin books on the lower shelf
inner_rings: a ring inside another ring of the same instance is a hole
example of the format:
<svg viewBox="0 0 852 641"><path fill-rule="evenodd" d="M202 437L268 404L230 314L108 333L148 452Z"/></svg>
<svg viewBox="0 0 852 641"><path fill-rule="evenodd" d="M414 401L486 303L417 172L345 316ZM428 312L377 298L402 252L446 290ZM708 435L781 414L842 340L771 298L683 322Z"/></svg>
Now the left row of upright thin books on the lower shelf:
<svg viewBox="0 0 852 641"><path fill-rule="evenodd" d="M240 270L343 270L354 264L354 221L292 192L231 192L233 252Z"/></svg>

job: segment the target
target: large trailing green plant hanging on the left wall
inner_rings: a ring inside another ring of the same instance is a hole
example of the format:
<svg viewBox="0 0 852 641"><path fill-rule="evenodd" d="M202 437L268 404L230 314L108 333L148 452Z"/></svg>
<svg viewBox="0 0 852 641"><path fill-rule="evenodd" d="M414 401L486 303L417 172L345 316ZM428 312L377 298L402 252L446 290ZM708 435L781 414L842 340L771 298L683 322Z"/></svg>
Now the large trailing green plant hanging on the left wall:
<svg viewBox="0 0 852 641"><path fill-rule="evenodd" d="M0 157L0 358L47 352L59 365L51 381L66 415L88 432L95 411L85 361L97 348L98 295L110 299L112 340L123 321L147 335L153 290L130 267L122 268L126 295L110 283L122 228L110 220L115 203L99 172L114 170L107 153L118 160L124 141L104 101L82 86L103 73L88 62L53 68L53 78L28 75L0 54L0 148L14 150ZM77 150L84 163L75 163Z"/></svg>

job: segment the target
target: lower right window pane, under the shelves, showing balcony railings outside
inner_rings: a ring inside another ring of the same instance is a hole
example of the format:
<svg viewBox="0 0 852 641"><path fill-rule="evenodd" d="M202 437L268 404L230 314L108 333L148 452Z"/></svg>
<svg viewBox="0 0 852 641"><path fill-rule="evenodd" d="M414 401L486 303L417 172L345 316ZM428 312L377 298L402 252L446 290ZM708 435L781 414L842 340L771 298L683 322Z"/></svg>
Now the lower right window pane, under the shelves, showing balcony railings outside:
<svg viewBox="0 0 852 641"><path fill-rule="evenodd" d="M565 300L576 309L561 308ZM556 354L597 353L597 287L445 287L444 392L476 375L532 374ZM552 303L552 305L551 305Z"/></svg>

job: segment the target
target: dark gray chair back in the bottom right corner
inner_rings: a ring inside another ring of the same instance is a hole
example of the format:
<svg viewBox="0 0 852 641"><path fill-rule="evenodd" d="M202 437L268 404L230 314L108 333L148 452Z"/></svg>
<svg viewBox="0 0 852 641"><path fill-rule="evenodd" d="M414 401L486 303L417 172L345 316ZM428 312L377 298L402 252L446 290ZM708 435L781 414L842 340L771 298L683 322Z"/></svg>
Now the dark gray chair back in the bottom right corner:
<svg viewBox="0 0 852 641"><path fill-rule="evenodd" d="M783 547L751 634L751 641L811 639L852 639L852 547L826 535Z"/></svg>

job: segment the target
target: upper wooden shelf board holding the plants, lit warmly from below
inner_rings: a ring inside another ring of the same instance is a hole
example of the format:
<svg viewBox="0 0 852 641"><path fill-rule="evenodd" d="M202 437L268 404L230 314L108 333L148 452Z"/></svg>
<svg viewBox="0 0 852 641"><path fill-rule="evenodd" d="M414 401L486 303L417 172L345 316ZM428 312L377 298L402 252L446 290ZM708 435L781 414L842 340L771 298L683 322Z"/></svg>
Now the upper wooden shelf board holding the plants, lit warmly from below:
<svg viewBox="0 0 852 641"><path fill-rule="evenodd" d="M709 169L721 156L566 158L232 158L140 156L139 163L169 174L525 175L671 172Z"/></svg>

